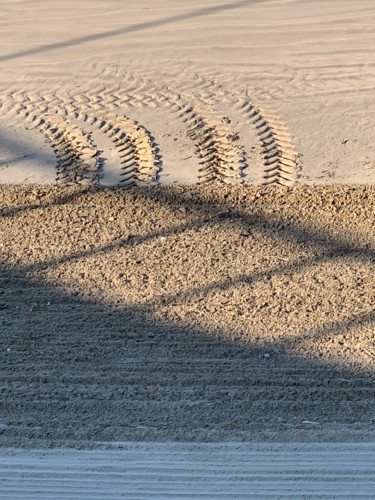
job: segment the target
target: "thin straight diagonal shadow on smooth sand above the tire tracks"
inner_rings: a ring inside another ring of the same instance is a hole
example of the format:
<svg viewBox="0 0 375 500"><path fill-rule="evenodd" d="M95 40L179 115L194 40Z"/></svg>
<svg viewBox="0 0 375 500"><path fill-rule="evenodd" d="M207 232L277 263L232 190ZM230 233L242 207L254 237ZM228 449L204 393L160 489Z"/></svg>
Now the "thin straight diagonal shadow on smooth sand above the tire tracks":
<svg viewBox="0 0 375 500"><path fill-rule="evenodd" d="M178 23L182 21L187 21L189 19L195 19L204 16L210 16L217 14L219 12L227 12L229 10L238 9L246 5L252 5L255 3L265 2L266 0L241 0L238 2L226 3L223 5L215 5L214 7L204 7L201 9L194 10L192 12L187 12L186 14L178 14L175 16L168 16L161 19L156 19L154 21L148 21L144 23L136 23L131 26L124 28L119 28L116 30L106 31L103 33L96 33L93 35L85 35L81 37L72 38L70 40L65 40L63 42L50 43L42 45L39 47L33 47L26 50L20 50L18 52L13 52L11 54L0 56L0 62L8 61L11 59L19 59L21 57L42 54L44 52L50 52L57 49L74 47L76 45L82 45L85 43L90 43L96 40L106 40L108 38L114 38L121 35L127 35L129 33L134 33L137 31L145 31L148 29L156 28L158 26L166 26L168 24Z"/></svg>

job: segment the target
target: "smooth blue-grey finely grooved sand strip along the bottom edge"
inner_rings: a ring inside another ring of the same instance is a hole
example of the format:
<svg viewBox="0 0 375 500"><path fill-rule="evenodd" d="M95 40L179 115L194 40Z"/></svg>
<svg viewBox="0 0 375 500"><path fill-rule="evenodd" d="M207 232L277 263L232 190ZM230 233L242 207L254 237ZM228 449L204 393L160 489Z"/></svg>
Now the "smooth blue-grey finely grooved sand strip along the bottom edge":
<svg viewBox="0 0 375 500"><path fill-rule="evenodd" d="M364 500L375 489L368 444L119 443L115 450L1 450L1 498Z"/></svg>

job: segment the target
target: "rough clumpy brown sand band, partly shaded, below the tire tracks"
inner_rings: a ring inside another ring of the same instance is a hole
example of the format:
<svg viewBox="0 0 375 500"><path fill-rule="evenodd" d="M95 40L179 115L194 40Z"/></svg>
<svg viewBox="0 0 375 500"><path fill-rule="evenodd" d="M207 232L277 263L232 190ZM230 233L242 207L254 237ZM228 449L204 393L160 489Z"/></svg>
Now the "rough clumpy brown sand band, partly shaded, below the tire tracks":
<svg viewBox="0 0 375 500"><path fill-rule="evenodd" d="M0 207L2 446L374 438L374 187Z"/></svg>

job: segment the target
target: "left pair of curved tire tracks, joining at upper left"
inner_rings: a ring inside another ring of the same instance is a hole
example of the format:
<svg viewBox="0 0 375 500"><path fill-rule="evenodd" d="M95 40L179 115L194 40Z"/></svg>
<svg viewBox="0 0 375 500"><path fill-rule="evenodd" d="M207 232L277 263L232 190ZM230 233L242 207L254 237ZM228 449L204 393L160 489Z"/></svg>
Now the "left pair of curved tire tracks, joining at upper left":
<svg viewBox="0 0 375 500"><path fill-rule="evenodd" d="M77 101L56 94L21 94L15 109L45 134L58 159L57 181L64 183L100 183L101 158L89 139L89 134L67 120L78 119L94 125L112 140L121 158L121 184L150 184L157 179L160 155L151 134L141 125L126 117L95 113L95 107L85 96ZM11 106L12 108L12 106ZM45 118L49 115L49 121ZM88 144L89 142L89 144ZM95 158L95 167L94 161ZM91 174L91 179L90 175ZM92 175L93 174L93 175ZM90 182L91 181L91 182Z"/></svg>

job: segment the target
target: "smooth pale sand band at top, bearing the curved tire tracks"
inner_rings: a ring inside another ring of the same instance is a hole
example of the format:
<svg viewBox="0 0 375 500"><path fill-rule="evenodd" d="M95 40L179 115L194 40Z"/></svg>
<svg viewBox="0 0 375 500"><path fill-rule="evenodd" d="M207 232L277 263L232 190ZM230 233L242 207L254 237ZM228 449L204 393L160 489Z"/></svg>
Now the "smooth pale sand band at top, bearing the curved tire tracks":
<svg viewBox="0 0 375 500"><path fill-rule="evenodd" d="M373 0L0 11L0 182L375 181Z"/></svg>

